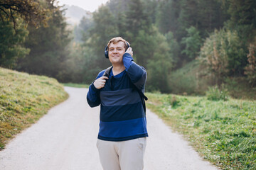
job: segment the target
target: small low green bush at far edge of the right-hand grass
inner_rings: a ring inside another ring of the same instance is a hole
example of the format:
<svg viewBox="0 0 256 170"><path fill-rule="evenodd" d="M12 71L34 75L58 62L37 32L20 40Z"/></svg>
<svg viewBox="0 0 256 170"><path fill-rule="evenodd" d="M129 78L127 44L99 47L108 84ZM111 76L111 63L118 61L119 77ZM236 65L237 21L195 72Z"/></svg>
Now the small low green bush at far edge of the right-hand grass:
<svg viewBox="0 0 256 170"><path fill-rule="evenodd" d="M206 97L210 101L228 101L229 99L228 91L224 89L224 86L222 86L222 89L219 89L218 86L209 87Z"/></svg>

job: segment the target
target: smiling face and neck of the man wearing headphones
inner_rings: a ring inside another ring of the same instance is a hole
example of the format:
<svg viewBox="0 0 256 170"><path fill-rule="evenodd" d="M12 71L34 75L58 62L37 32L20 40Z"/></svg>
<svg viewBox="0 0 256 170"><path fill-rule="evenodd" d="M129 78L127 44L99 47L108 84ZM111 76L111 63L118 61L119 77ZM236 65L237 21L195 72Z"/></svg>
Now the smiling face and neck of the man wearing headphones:
<svg viewBox="0 0 256 170"><path fill-rule="evenodd" d="M125 52L124 42L119 41L115 44L110 43L109 47L109 59L112 64L123 64L122 57Z"/></svg>

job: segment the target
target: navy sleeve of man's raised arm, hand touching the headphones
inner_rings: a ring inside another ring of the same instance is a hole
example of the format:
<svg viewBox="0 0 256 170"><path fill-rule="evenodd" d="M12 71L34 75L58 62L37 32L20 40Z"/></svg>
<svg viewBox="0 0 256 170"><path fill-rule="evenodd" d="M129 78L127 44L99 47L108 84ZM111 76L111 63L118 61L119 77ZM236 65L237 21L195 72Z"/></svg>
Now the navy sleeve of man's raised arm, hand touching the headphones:
<svg viewBox="0 0 256 170"><path fill-rule="evenodd" d="M144 91L144 86L146 84L146 69L136 64L129 53L124 53L123 62L125 70L132 83L137 86L139 90Z"/></svg>

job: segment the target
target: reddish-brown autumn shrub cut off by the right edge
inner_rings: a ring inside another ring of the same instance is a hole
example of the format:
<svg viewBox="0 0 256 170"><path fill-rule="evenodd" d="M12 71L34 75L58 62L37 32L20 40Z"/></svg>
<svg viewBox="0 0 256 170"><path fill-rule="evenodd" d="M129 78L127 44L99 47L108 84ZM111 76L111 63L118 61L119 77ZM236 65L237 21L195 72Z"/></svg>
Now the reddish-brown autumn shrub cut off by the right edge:
<svg viewBox="0 0 256 170"><path fill-rule="evenodd" d="M248 64L245 67L245 74L247 75L247 79L252 84L252 86L256 85L256 46L250 44L249 54L247 55Z"/></svg>

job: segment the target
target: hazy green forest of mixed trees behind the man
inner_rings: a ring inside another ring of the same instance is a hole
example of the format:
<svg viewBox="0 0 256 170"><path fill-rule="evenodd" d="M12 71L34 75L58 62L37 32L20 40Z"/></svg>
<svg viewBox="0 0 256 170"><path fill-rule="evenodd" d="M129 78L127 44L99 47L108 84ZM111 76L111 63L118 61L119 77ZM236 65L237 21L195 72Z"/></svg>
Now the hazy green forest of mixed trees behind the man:
<svg viewBox="0 0 256 170"><path fill-rule="evenodd" d="M146 91L256 86L255 0L110 0L75 28L56 0L1 0L0 20L0 67L90 84L121 36L147 70Z"/></svg>

